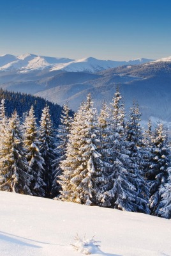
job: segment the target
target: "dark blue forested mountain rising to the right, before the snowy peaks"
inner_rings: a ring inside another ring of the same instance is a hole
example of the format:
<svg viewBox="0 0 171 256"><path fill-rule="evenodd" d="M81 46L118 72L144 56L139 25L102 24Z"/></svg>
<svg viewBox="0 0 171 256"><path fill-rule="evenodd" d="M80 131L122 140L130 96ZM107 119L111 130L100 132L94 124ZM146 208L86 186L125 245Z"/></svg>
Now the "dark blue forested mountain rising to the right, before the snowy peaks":
<svg viewBox="0 0 171 256"><path fill-rule="evenodd" d="M81 73L77 73L77 76ZM100 109L105 100L108 104L112 101L117 84L129 111L133 100L137 100L142 111L142 119L160 118L171 122L171 63L156 62L143 65L122 66L98 72L96 77L87 74L86 81L71 80L73 73L64 72L63 81L59 83L61 74L57 74L48 82L46 89L36 93L48 100L64 104L68 100L74 110L85 100L87 93L91 92L95 106ZM85 74L84 74L85 77ZM54 86L52 86L52 81ZM67 84L68 83L68 84Z"/></svg>

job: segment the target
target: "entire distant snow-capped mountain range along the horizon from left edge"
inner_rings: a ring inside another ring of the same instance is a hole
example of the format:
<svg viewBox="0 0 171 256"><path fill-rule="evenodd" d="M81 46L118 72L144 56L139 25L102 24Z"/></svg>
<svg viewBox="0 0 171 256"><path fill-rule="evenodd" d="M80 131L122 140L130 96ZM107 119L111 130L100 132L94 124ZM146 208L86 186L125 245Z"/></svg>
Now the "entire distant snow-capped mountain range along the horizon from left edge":
<svg viewBox="0 0 171 256"><path fill-rule="evenodd" d="M130 61L112 61L97 60L95 58L83 58L80 60L71 60L68 58L53 58L47 56L38 56L35 54L22 54L13 56L6 54L0 56L0 71L17 71L18 73L27 73L36 70L49 71L64 70L67 72L98 72L108 68L119 67L122 65L137 65L147 63L149 59L137 59Z"/></svg>

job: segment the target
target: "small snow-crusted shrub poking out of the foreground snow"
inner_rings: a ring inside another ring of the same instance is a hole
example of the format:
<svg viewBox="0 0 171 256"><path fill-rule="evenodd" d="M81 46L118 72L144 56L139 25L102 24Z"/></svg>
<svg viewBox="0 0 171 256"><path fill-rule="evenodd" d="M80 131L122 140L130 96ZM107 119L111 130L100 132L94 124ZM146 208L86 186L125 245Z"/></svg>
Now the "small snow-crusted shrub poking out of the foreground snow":
<svg viewBox="0 0 171 256"><path fill-rule="evenodd" d="M97 243L99 243L98 241L94 240L94 237L92 237L91 239L85 239L84 238L80 238L77 236L75 237L76 243L75 244L71 244L71 246L73 246L73 248L77 251L80 252L82 254L85 255L89 255L89 254L93 254L93 253L98 253L99 250L99 246Z"/></svg>

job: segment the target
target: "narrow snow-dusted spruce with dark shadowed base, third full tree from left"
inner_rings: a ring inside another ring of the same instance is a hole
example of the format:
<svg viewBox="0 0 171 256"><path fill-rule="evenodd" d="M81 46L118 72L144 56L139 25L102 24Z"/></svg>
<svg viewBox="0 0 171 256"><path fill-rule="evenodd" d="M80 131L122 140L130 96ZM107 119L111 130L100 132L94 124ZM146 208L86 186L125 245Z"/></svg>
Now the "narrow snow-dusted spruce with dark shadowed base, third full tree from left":
<svg viewBox="0 0 171 256"><path fill-rule="evenodd" d="M44 159L43 164L43 180L46 184L45 186L45 196L50 198L52 189L52 163L55 159L54 149L55 145L55 135L52 120L50 118L49 107L45 106L41 114L40 120L40 153L41 157Z"/></svg>

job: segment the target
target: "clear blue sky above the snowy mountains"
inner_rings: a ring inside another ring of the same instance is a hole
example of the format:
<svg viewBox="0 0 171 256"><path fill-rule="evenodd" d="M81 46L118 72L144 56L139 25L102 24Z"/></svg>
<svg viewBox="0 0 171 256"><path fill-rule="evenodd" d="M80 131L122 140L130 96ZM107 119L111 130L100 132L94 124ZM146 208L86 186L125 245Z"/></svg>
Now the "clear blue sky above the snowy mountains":
<svg viewBox="0 0 171 256"><path fill-rule="evenodd" d="M169 0L0 0L0 55L171 56Z"/></svg>

